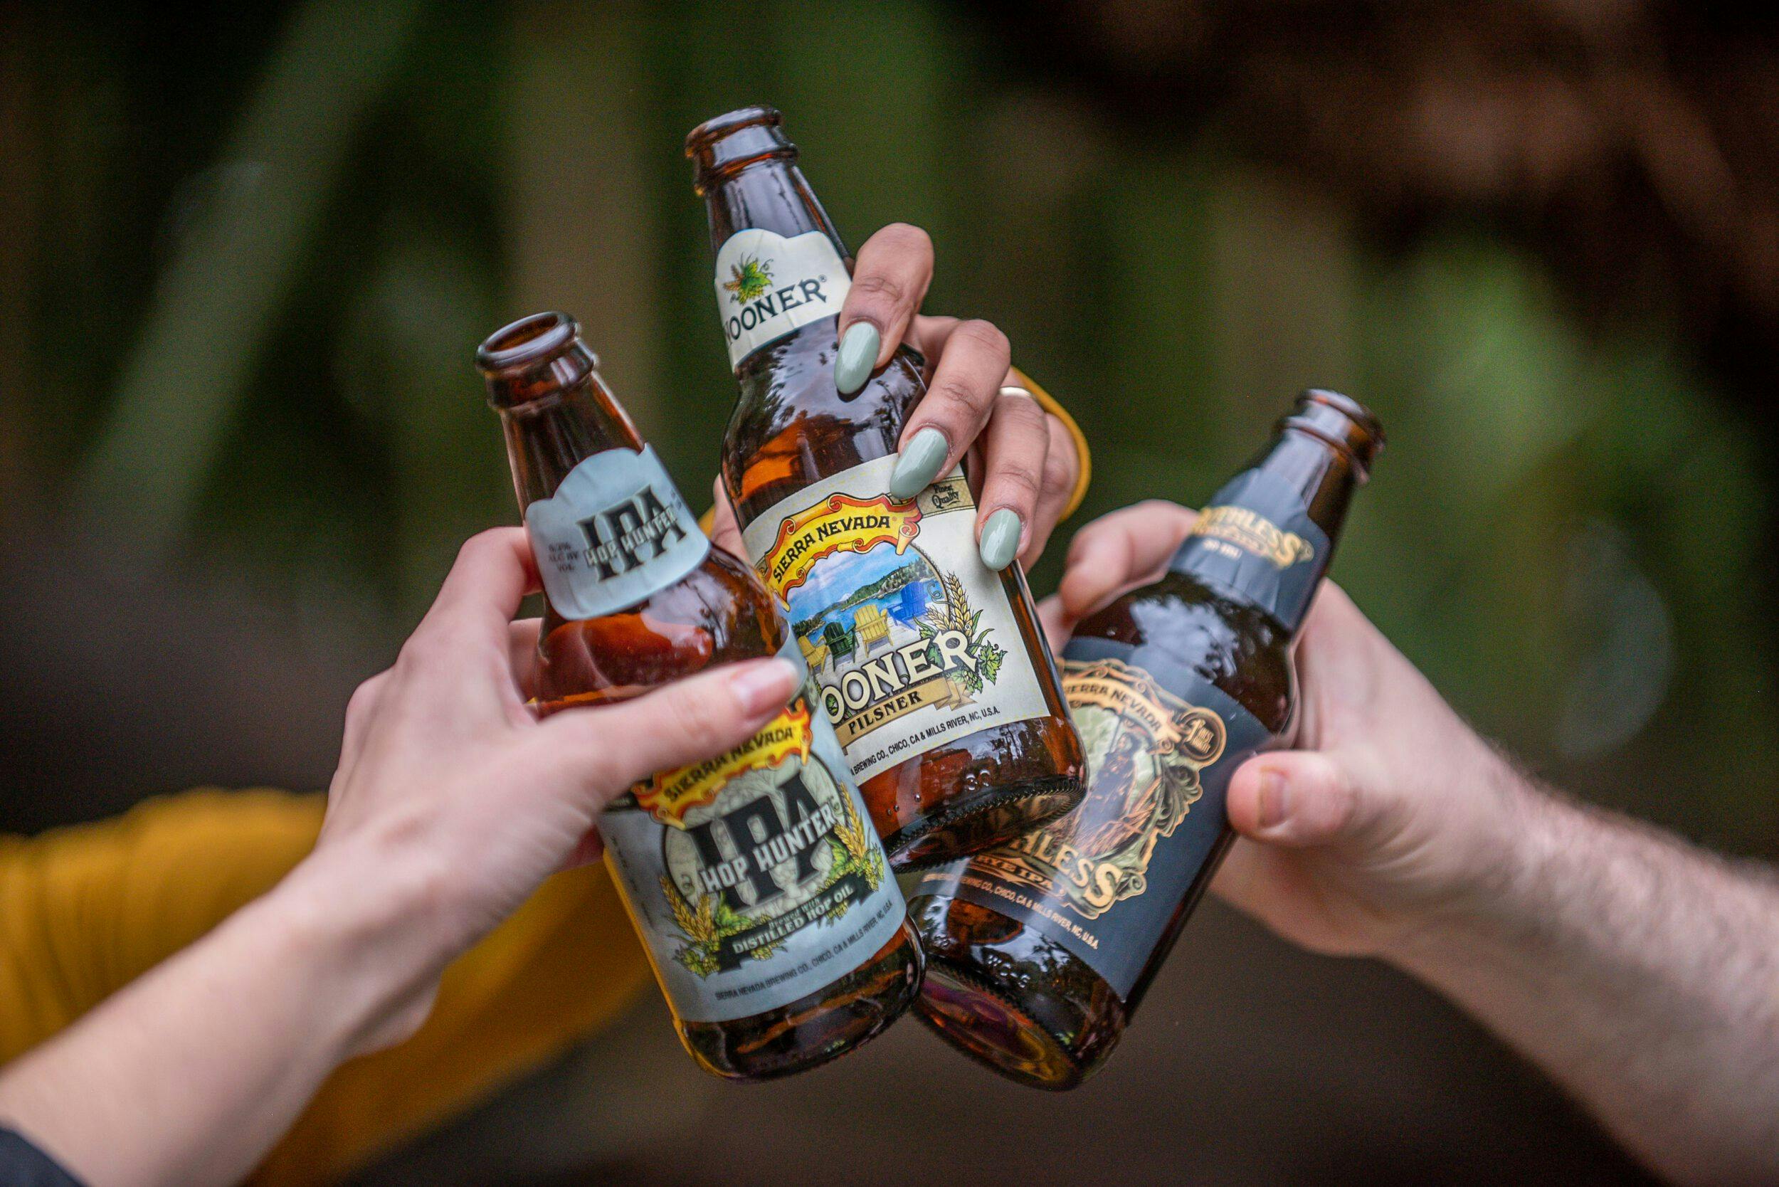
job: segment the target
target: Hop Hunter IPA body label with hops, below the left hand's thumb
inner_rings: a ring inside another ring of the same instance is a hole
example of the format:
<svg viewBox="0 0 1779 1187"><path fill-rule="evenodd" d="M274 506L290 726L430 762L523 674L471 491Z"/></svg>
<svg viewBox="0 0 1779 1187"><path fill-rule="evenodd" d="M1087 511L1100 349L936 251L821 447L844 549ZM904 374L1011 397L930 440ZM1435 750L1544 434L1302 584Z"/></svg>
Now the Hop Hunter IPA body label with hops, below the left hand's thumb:
<svg viewBox="0 0 1779 1187"><path fill-rule="evenodd" d="M614 801L600 835L662 991L688 1021L809 997L890 943L906 913L808 680L742 746Z"/></svg>

